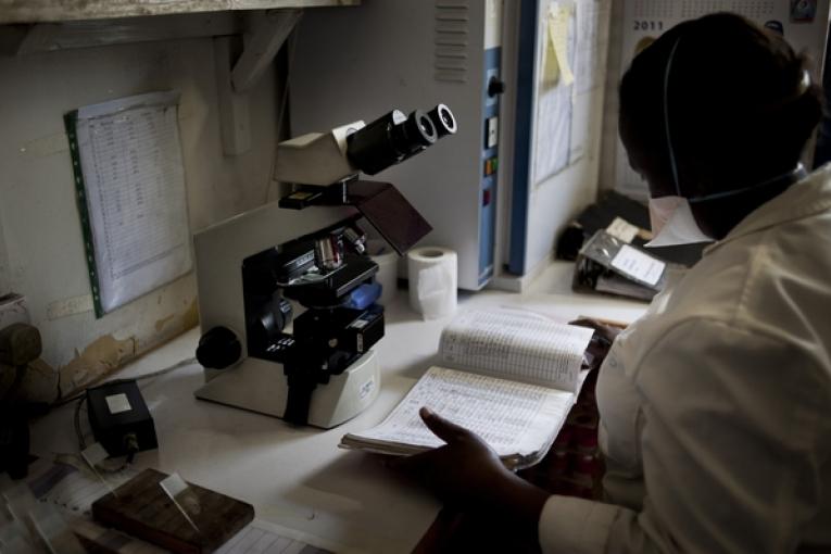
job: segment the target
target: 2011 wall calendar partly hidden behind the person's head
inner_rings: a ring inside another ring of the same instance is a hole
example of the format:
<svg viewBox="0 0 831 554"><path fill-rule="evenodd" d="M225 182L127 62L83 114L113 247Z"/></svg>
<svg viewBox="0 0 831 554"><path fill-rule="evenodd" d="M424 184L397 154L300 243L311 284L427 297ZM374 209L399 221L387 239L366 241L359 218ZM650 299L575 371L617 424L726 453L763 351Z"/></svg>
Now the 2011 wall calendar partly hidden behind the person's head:
<svg viewBox="0 0 831 554"><path fill-rule="evenodd" d="M796 52L804 51L813 60L823 59L829 0L632 0L624 8L621 75L634 55L664 32L682 21L721 11L739 13L780 32ZM819 79L820 68L815 64L815 79ZM619 139L615 153L615 188L641 200L649 196L646 182L629 167Z"/></svg>

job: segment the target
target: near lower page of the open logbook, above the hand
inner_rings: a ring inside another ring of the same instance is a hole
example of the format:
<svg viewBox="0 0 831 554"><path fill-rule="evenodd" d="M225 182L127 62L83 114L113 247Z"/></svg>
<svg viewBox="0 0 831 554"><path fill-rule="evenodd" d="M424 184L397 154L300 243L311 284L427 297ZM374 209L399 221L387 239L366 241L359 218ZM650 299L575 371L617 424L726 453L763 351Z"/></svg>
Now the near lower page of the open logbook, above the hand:
<svg viewBox="0 0 831 554"><path fill-rule="evenodd" d="M376 450L390 453L439 446L443 442L418 415L418 410L427 406L479 435L500 456L544 454L572 404L570 392L431 367L380 425L348 435L344 443L352 446L375 444ZM361 444L356 444L356 440ZM387 443L416 449L395 451L393 448L389 451L380 448Z"/></svg>

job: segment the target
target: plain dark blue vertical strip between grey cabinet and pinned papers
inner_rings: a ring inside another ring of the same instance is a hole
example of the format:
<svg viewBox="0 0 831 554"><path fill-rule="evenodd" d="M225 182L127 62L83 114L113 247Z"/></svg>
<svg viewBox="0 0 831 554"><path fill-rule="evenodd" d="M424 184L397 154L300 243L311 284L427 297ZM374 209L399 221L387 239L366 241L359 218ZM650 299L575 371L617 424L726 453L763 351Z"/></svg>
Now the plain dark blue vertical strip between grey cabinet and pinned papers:
<svg viewBox="0 0 831 554"><path fill-rule="evenodd" d="M519 53L517 55L514 185L511 194L511 250L508 252L508 272L515 275L525 274L526 238L528 235L537 9L538 0L521 0Z"/></svg>

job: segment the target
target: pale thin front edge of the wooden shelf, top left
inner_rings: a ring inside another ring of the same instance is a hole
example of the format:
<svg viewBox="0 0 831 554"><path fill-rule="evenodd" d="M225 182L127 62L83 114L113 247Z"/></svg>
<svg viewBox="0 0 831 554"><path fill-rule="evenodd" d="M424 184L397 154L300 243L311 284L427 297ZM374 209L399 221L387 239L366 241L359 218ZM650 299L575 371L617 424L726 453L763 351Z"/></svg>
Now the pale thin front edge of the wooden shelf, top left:
<svg viewBox="0 0 831 554"><path fill-rule="evenodd" d="M361 0L0 0L0 24L358 5Z"/></svg>

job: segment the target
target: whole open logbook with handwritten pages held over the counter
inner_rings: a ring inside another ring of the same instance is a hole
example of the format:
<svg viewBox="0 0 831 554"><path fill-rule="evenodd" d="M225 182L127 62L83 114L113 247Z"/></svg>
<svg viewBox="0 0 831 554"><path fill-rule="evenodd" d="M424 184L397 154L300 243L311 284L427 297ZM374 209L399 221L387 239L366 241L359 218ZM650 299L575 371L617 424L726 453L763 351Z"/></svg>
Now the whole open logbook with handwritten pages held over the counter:
<svg viewBox="0 0 831 554"><path fill-rule="evenodd" d="M482 437L509 467L539 462L580 391L592 329L519 310L475 310L441 335L430 367L380 425L340 445L408 455L443 442L418 416L427 406Z"/></svg>

